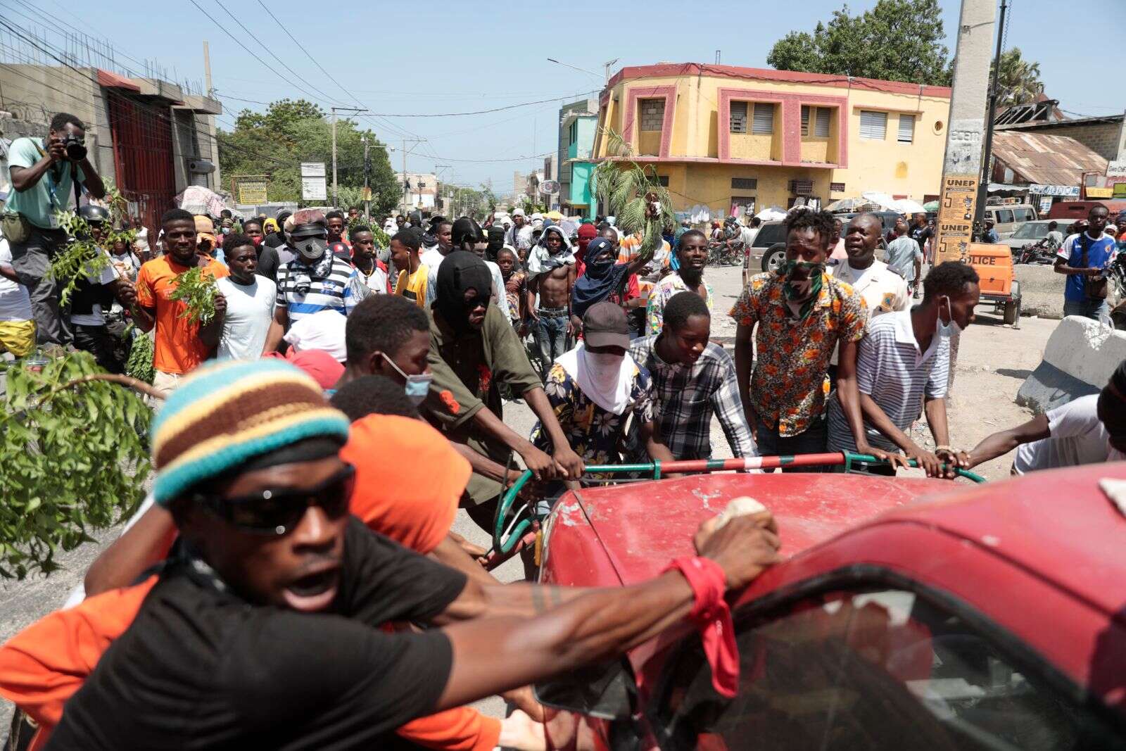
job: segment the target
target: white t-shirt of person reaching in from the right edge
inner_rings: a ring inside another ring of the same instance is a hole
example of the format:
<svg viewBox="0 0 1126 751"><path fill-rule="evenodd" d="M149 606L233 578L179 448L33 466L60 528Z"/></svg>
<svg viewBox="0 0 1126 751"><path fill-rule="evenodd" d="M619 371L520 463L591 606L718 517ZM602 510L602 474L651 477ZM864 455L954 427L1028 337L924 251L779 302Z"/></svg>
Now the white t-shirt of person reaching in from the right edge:
<svg viewBox="0 0 1126 751"><path fill-rule="evenodd" d="M1018 446L1012 468L1018 474L1025 474L1035 470L1101 464L1126 458L1121 452L1110 447L1110 436L1097 412L1098 403L1099 395L1090 394L1049 410L1047 418L1051 437Z"/></svg>

